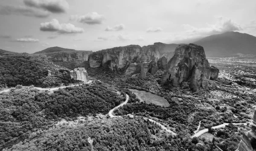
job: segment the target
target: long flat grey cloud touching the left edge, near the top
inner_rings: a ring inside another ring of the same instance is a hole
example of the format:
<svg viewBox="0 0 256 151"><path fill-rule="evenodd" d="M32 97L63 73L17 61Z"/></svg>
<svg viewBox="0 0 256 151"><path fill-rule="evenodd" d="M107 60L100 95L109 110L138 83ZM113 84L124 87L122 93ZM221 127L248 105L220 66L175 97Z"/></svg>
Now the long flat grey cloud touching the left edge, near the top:
<svg viewBox="0 0 256 151"><path fill-rule="evenodd" d="M48 17L49 11L32 9L24 6L0 6L1 15L23 15L29 17Z"/></svg>

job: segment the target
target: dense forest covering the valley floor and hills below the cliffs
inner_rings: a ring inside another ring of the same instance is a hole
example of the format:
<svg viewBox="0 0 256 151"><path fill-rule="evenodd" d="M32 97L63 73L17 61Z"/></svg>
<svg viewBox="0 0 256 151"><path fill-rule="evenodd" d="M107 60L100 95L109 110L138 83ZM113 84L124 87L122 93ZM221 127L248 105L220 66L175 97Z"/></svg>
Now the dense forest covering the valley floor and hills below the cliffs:
<svg viewBox="0 0 256 151"><path fill-rule="evenodd" d="M139 78L139 74L125 75L126 68L119 71L90 68L87 61L53 64L28 55L2 58L1 87L16 88L0 94L0 150L89 150L87 138L91 137L97 151L209 151L211 140L208 137L191 139L201 121L200 130L208 128L207 136L215 137L221 149L233 151L243 132L250 129L232 124L211 129L222 123L246 123L251 119L256 96L234 91L232 82L227 79L219 78L218 82L209 82L206 89L192 92L188 82L180 88L171 83L160 85L162 70ZM53 93L33 88L33 85L51 87L76 83L70 79L67 69L77 67L86 68L94 82ZM48 70L51 76L47 76ZM127 88L159 95L170 105L140 102ZM219 91L224 93L221 97L212 95ZM109 118L106 114L125 100L125 94L129 95L128 104L113 113L122 117ZM231 94L233 97L226 96ZM99 118L99 114L103 117ZM127 114L133 114L134 118ZM172 137L143 117L161 123L177 135ZM65 123L61 124L63 120Z"/></svg>

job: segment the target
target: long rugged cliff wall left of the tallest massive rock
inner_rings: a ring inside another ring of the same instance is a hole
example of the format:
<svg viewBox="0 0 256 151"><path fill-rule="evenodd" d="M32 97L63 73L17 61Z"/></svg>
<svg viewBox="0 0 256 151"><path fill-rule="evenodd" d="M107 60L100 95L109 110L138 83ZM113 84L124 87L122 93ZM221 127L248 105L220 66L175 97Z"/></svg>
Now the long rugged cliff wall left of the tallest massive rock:
<svg viewBox="0 0 256 151"><path fill-rule="evenodd" d="M140 72L142 63L153 60L148 71L154 74L159 69L158 60L163 55L163 50L166 51L163 43L154 43L154 45L143 47L138 45L115 47L93 52L89 55L88 61L90 67L108 67L112 70L128 67L125 71L126 74L137 74ZM163 58L164 61L165 59Z"/></svg>

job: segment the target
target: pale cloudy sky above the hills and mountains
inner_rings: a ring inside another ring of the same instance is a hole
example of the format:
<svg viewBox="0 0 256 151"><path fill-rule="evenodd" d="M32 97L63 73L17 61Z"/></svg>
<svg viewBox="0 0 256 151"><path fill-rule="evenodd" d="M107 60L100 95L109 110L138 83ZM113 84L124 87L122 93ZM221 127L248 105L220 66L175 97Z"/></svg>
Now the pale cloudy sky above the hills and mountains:
<svg viewBox="0 0 256 151"><path fill-rule="evenodd" d="M0 0L7 51L192 43L227 31L256 36L256 0Z"/></svg>

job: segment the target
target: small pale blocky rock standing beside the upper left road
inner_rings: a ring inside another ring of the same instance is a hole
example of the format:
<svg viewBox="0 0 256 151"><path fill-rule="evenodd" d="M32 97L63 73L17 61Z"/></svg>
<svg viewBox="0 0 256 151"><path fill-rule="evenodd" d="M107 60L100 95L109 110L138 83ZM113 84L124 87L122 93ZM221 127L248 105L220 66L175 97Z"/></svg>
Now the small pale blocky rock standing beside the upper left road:
<svg viewBox="0 0 256 151"><path fill-rule="evenodd" d="M70 77L74 80L80 80L83 82L88 82L88 74L84 68L75 68L74 70L70 71Z"/></svg>

